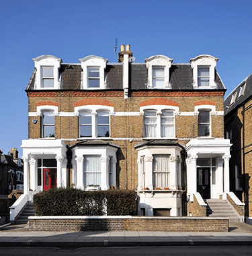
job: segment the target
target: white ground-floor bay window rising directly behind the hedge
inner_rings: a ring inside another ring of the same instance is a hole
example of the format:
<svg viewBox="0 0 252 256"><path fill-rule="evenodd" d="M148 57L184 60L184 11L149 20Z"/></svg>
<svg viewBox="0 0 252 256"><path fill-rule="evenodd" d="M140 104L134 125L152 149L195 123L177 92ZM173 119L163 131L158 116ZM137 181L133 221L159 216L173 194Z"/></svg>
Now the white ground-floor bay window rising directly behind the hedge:
<svg viewBox="0 0 252 256"><path fill-rule="evenodd" d="M120 148L106 141L82 141L71 147L73 153L73 184L88 190L116 187L116 152Z"/></svg>

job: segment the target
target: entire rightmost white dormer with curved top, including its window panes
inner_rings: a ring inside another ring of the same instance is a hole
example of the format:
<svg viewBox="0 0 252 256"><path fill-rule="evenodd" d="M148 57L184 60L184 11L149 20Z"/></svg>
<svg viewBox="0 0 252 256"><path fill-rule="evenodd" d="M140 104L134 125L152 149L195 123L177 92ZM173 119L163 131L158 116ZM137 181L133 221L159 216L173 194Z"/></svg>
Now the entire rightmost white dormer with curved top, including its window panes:
<svg viewBox="0 0 252 256"><path fill-rule="evenodd" d="M211 55L199 55L194 59L190 59L195 89L217 88L214 82L214 71L217 61L218 58Z"/></svg>

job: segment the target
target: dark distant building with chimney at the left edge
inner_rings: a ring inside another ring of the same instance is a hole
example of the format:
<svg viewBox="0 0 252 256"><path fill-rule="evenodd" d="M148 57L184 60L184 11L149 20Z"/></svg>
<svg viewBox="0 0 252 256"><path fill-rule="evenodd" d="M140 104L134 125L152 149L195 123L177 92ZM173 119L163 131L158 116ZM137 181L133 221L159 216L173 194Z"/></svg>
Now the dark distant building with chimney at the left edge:
<svg viewBox="0 0 252 256"><path fill-rule="evenodd" d="M16 148L8 154L0 153L0 195L9 195L13 190L23 190L24 174L22 160Z"/></svg>

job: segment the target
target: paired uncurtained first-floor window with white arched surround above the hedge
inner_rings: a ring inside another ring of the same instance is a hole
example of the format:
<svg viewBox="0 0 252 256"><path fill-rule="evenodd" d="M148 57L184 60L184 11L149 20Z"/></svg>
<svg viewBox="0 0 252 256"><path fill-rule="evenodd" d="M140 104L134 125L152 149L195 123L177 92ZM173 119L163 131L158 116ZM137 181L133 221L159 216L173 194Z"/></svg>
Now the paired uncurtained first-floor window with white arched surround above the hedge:
<svg viewBox="0 0 252 256"><path fill-rule="evenodd" d="M75 115L79 116L79 137L110 137L110 115L114 107L87 105L75 107Z"/></svg>

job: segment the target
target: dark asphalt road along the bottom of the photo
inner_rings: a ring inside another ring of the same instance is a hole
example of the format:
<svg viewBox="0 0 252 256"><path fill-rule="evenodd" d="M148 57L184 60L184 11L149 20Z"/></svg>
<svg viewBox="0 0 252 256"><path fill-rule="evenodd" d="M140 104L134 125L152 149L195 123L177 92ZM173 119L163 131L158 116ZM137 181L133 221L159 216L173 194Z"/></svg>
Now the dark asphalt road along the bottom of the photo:
<svg viewBox="0 0 252 256"><path fill-rule="evenodd" d="M1 247L2 256L44 256L44 255L91 255L91 256L243 256L252 255L252 246L220 246L220 247L87 247L87 248L54 248L54 247Z"/></svg>

